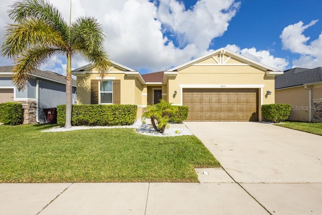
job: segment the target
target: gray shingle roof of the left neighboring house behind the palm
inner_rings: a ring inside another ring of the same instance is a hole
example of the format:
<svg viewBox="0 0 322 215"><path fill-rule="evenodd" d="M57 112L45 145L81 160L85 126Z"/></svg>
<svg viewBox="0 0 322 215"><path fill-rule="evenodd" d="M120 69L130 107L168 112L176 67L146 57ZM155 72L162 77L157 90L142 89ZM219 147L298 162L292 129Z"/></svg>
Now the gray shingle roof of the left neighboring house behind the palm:
<svg viewBox="0 0 322 215"><path fill-rule="evenodd" d="M0 74L1 73L12 73L13 67L14 66L0 66ZM34 69L34 70L30 71L30 75L35 75L35 76L43 77L43 78L50 79L53 81L66 83L65 76L54 73L53 71L43 71L43 70L39 70L39 69ZM72 80L72 85L76 86L75 80Z"/></svg>

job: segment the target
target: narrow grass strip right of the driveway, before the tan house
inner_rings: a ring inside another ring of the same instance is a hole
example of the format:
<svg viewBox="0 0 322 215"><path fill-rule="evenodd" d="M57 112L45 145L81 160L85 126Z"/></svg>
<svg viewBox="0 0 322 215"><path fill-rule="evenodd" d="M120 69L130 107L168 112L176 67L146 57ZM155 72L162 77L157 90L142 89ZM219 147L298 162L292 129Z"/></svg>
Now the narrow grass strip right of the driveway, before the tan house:
<svg viewBox="0 0 322 215"><path fill-rule="evenodd" d="M275 124L281 127L292 128L295 130L305 131L317 135L322 135L322 123L313 122L283 122Z"/></svg>

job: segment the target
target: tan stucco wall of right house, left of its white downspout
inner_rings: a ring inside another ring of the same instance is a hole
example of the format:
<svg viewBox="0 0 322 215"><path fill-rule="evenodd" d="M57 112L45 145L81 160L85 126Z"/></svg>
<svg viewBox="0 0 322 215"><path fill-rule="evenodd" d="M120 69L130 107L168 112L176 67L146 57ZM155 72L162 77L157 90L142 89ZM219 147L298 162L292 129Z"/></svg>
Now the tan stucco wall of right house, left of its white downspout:
<svg viewBox="0 0 322 215"><path fill-rule="evenodd" d="M291 113L288 120L303 121L309 120L309 91L301 87L294 87L275 91L275 102L277 104L291 104Z"/></svg>

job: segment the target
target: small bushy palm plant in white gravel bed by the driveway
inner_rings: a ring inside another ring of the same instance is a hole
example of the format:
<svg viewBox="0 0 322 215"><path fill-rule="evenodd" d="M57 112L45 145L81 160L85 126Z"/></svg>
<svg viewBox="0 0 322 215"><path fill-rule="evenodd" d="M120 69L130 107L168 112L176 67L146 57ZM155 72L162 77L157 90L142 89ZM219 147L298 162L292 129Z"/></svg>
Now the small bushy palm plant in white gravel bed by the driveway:
<svg viewBox="0 0 322 215"><path fill-rule="evenodd" d="M151 119L151 124L157 132L164 133L172 113L171 103L161 99L159 103L147 106L144 117Z"/></svg>

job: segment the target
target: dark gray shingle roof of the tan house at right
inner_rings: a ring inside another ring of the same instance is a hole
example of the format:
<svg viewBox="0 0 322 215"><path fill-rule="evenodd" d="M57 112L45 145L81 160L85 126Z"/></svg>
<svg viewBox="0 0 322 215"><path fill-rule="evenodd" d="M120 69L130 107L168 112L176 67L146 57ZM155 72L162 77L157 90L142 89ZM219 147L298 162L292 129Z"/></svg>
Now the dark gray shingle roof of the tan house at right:
<svg viewBox="0 0 322 215"><path fill-rule="evenodd" d="M292 68L275 77L275 89L295 87L322 81L322 67Z"/></svg>

